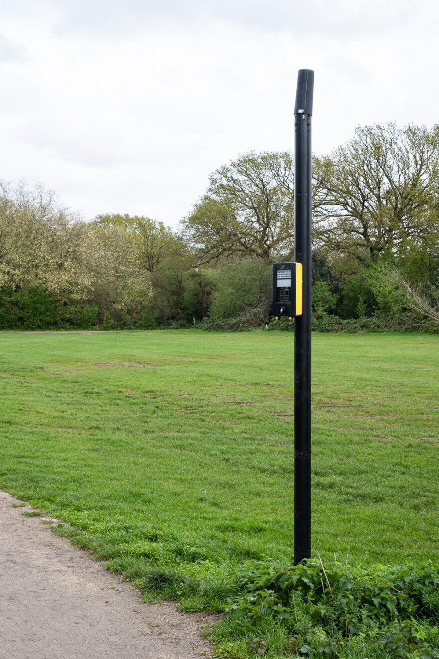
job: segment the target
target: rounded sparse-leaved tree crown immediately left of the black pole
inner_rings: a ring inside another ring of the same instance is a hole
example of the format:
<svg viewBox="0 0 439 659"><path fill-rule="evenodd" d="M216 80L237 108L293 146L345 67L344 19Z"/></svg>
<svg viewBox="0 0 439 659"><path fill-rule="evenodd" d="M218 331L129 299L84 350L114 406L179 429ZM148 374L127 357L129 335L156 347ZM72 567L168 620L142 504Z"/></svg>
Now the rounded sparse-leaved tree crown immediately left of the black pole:
<svg viewBox="0 0 439 659"><path fill-rule="evenodd" d="M289 153L249 152L209 177L206 194L183 221L197 264L230 256L271 262L291 254L293 161Z"/></svg>

